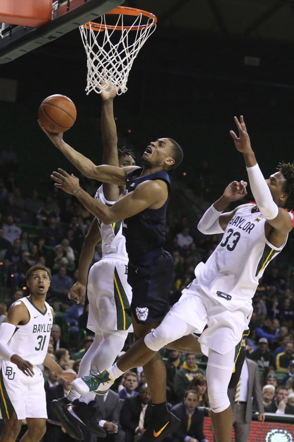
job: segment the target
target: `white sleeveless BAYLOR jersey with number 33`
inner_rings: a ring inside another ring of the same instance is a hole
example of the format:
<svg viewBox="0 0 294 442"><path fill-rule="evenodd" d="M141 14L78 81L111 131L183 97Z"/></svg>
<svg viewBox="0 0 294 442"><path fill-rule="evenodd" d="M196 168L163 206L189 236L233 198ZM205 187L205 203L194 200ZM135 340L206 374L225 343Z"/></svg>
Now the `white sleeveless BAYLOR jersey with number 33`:
<svg viewBox="0 0 294 442"><path fill-rule="evenodd" d="M255 205L239 209L212 255L195 269L194 283L228 310L251 301L265 267L286 244L287 239L279 248L268 242L265 221Z"/></svg>

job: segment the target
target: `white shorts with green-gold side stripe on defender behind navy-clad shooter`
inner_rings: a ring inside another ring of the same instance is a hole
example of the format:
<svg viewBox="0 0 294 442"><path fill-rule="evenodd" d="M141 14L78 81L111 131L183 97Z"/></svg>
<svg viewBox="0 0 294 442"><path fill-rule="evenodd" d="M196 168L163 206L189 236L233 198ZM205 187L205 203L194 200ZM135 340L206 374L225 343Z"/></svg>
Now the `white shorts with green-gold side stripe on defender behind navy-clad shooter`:
<svg viewBox="0 0 294 442"><path fill-rule="evenodd" d="M130 302L132 289L127 283L128 259L109 254L95 263L89 272L87 328L95 334L106 331L133 331ZM118 335L118 333L115 333ZM125 337L125 332L122 333Z"/></svg>

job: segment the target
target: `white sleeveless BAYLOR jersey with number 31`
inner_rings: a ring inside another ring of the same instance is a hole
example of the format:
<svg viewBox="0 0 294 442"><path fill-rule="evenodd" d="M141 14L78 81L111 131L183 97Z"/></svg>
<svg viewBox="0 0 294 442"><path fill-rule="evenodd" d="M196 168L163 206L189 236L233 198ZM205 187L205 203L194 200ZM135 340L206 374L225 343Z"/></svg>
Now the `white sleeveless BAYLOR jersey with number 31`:
<svg viewBox="0 0 294 442"><path fill-rule="evenodd" d="M37 309L28 297L21 298L30 313L30 320L26 325L18 325L14 335L8 342L8 347L21 358L33 365L40 365L48 350L53 317L50 305L45 302L45 313Z"/></svg>

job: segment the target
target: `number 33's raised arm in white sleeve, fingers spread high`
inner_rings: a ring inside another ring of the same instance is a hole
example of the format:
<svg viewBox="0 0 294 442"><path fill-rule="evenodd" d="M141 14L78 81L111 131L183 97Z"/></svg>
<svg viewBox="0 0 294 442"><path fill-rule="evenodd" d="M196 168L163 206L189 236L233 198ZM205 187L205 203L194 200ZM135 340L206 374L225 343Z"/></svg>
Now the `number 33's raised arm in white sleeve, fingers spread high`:
<svg viewBox="0 0 294 442"><path fill-rule="evenodd" d="M278 207L272 198L268 184L262 175L252 150L243 116L241 115L240 121L237 117L234 117L234 121L239 131L239 137L237 137L233 130L231 130L230 133L234 140L236 149L239 152L242 152L244 156L251 191L257 206L259 207L261 214L266 218L267 222L272 227L279 230L282 236L285 236L292 229L292 219L290 214L282 207ZM281 244L282 243L283 240Z"/></svg>

